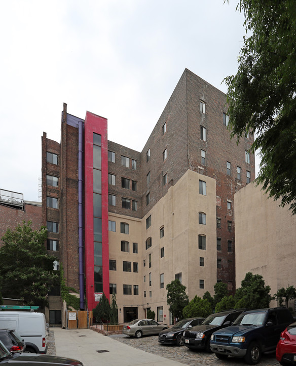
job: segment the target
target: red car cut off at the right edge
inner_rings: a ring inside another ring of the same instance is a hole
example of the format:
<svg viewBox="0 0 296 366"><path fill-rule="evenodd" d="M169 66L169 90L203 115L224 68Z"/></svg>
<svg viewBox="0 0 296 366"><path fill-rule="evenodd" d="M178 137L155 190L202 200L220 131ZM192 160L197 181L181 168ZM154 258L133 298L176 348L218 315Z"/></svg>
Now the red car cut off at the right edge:
<svg viewBox="0 0 296 366"><path fill-rule="evenodd" d="M282 366L296 365L296 322L281 333L275 354Z"/></svg>

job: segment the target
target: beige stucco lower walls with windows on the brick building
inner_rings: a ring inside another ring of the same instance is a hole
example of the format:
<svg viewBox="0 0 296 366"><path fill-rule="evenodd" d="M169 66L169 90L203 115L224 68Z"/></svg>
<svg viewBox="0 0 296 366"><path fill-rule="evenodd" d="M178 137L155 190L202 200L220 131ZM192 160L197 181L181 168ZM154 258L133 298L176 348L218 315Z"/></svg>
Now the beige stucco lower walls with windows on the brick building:
<svg viewBox="0 0 296 366"><path fill-rule="evenodd" d="M206 182L206 195L199 194L199 180ZM109 213L109 220L116 222L116 232L109 231L109 259L117 262L117 270L109 271L109 282L117 287L119 322L124 321L125 307L137 307L138 318L145 317L149 308L155 312L156 319L169 323L166 285L178 273L190 299L195 295L202 297L205 291L213 294L217 260L215 184L215 179L188 170L142 220ZM199 212L206 214L206 225L199 224ZM146 229L150 215L151 226ZM129 234L120 232L121 222L129 224ZM199 249L200 234L206 236L206 250ZM146 249L145 242L150 237L152 246ZM129 252L121 252L121 240L129 242ZM138 243L138 253L133 253L133 242ZM164 248L163 257L161 248ZM200 257L204 258L204 266L200 266ZM131 272L123 271L123 261L131 262ZM138 263L136 273L133 262ZM204 280L204 288L200 288L200 280ZM139 294L124 295L124 284L132 285L132 291L133 285L138 285Z"/></svg>

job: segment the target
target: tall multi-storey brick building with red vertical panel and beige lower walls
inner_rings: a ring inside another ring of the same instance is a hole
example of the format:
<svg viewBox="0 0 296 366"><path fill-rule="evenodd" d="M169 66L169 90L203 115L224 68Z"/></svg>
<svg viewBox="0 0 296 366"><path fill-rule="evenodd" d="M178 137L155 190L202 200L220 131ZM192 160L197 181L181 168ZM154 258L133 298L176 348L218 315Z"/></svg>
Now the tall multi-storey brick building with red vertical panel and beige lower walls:
<svg viewBox="0 0 296 366"><path fill-rule="evenodd" d="M82 309L116 292L120 322L151 309L171 323L173 279L190 299L235 290L234 194L255 170L253 136L237 145L227 125L225 94L187 69L141 152L64 104L60 144L42 137L43 224Z"/></svg>

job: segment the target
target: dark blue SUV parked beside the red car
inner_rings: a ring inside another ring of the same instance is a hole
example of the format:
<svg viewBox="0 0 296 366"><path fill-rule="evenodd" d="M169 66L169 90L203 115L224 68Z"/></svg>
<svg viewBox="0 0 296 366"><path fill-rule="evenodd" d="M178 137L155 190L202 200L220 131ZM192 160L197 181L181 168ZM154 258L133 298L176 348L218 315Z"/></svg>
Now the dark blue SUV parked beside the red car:
<svg viewBox="0 0 296 366"><path fill-rule="evenodd" d="M256 364L263 352L275 351L281 332L292 322L286 308L249 310L232 326L215 331L210 348L220 359L231 355Z"/></svg>

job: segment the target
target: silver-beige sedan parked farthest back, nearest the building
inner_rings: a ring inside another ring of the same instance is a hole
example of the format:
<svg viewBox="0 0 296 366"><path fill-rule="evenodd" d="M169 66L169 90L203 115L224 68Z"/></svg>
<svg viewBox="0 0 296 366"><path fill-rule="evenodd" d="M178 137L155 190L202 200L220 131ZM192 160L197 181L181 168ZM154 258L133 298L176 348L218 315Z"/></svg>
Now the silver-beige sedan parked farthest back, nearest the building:
<svg viewBox="0 0 296 366"><path fill-rule="evenodd" d="M146 334L158 334L160 331L167 329L166 324L159 324L153 319L135 319L128 325L124 325L122 332L123 334L135 336L141 338L142 335Z"/></svg>

